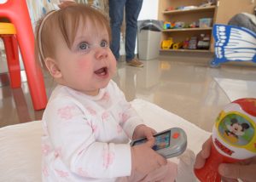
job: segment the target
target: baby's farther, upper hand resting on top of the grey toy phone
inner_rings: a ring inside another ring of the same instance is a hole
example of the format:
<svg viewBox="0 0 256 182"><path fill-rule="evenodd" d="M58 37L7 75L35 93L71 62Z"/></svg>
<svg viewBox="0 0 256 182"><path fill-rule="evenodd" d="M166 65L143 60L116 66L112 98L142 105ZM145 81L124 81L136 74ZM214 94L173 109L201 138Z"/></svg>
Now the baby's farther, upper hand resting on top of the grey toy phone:
<svg viewBox="0 0 256 182"><path fill-rule="evenodd" d="M156 134L156 131L153 128L149 128L146 125L141 124L135 128L132 139L141 139L144 137L148 140L154 139L153 134Z"/></svg>

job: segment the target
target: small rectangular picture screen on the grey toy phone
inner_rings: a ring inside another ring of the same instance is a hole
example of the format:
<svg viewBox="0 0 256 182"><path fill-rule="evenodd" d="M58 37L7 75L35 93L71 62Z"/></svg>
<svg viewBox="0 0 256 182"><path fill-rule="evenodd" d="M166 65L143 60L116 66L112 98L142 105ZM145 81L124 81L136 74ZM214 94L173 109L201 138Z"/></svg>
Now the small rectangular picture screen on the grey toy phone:
<svg viewBox="0 0 256 182"><path fill-rule="evenodd" d="M155 143L154 146L152 147L154 151L158 151L160 149L165 149L170 146L170 136L171 136L171 131L166 131L163 134L156 134L154 135L155 137ZM147 139L139 139L136 142L134 142L133 145L139 145L143 144L147 141Z"/></svg>

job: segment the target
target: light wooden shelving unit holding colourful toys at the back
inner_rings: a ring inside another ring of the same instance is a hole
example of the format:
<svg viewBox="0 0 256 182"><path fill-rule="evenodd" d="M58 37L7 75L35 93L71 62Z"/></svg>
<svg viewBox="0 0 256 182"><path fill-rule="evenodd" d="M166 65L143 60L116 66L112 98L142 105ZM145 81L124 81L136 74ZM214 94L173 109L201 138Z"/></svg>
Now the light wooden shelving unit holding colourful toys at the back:
<svg viewBox="0 0 256 182"><path fill-rule="evenodd" d="M159 20L176 22L183 21L185 23L192 23L202 18L212 18L212 23L215 21L216 6L199 7L204 0L160 0L159 2ZM197 6L195 9L175 8L181 6ZM167 8L174 8L174 10L166 10ZM166 40L172 37L173 42L183 42L188 37L200 37L201 34L210 35L212 45L212 27L207 28L181 28L181 29L167 29L162 31L161 40ZM167 52L210 52L213 50L212 46L208 50L202 49L160 49Z"/></svg>

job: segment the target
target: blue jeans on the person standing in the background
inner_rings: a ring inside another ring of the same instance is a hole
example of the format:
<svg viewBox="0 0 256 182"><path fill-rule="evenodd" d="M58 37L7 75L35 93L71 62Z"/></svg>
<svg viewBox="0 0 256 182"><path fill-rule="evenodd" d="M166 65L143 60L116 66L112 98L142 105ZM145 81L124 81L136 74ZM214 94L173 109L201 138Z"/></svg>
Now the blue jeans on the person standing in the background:
<svg viewBox="0 0 256 182"><path fill-rule="evenodd" d="M109 17L112 31L110 48L116 60L119 60L120 28L124 18L125 8L125 52L126 61L135 57L137 37L137 17L143 5L143 0L109 0Z"/></svg>

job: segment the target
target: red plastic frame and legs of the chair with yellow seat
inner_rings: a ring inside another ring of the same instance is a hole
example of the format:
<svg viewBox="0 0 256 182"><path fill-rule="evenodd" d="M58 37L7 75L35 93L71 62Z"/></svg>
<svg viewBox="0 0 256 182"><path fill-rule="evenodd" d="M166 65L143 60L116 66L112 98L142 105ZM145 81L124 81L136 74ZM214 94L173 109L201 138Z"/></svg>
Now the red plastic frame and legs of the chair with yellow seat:
<svg viewBox="0 0 256 182"><path fill-rule="evenodd" d="M6 3L0 3L0 17L8 18L15 26L16 38L26 71L32 104L35 110L42 110L47 104L47 96L44 88L44 77L34 57L34 36L26 0L7 0ZM4 41L3 39L6 53L9 52L9 55L15 55L15 39L10 39L9 41ZM10 53L10 51L14 52ZM14 77L10 76L11 87L20 87L20 76L16 76L20 74L20 71L17 73L17 71L20 70L19 61L14 59L14 61L7 60L9 69L14 68L15 71L13 72L16 72L13 74ZM14 84L12 84L12 82Z"/></svg>

